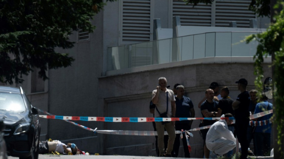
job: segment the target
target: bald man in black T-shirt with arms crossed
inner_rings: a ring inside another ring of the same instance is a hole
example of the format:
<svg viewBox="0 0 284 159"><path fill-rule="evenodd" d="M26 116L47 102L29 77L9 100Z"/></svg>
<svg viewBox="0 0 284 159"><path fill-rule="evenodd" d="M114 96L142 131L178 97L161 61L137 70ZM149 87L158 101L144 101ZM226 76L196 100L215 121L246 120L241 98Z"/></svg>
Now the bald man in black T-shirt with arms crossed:
<svg viewBox="0 0 284 159"><path fill-rule="evenodd" d="M207 89L205 91L206 100L201 104L201 114L203 118L214 118L216 117L218 102L214 101L214 91L213 89ZM203 126L212 125L216 122L216 120L203 120ZM210 151L205 146L206 134L208 129L204 129L202 132L203 135L203 146L204 146L204 155L205 158L209 158Z"/></svg>

